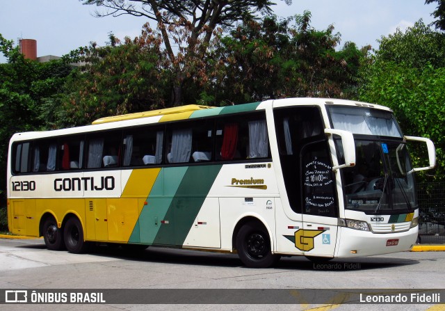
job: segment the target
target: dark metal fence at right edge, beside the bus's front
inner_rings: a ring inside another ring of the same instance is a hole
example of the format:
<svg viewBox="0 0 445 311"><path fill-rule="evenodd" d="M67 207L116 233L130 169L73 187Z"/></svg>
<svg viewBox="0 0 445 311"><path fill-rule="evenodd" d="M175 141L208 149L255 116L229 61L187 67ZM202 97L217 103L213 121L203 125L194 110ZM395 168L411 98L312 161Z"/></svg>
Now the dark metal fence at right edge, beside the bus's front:
<svg viewBox="0 0 445 311"><path fill-rule="evenodd" d="M445 183L418 184L421 244L445 244Z"/></svg>

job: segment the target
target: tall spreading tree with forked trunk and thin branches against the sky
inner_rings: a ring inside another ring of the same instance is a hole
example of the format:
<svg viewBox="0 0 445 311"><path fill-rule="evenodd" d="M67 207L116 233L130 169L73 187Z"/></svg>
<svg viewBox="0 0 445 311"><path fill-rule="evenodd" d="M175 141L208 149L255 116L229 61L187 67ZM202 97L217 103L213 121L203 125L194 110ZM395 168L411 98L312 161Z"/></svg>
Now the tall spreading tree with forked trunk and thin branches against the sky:
<svg viewBox="0 0 445 311"><path fill-rule="evenodd" d="M218 26L229 27L239 20L254 19L257 12L270 14L269 0L80 0L86 5L105 8L98 17L129 14L156 22L165 51L174 68L174 105L182 100L182 86L194 74L186 65L200 63ZM285 0L290 4L291 0ZM179 29L181 29L179 31ZM184 40L184 34L186 40ZM177 46L175 49L174 46ZM192 67L195 67L192 65Z"/></svg>

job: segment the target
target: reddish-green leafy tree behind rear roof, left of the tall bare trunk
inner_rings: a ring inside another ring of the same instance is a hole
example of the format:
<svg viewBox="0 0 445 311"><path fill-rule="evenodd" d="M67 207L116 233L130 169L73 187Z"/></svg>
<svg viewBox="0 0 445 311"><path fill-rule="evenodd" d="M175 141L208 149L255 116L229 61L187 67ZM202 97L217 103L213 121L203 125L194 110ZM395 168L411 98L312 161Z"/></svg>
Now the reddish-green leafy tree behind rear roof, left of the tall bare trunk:
<svg viewBox="0 0 445 311"><path fill-rule="evenodd" d="M85 125L97 118L165 107L171 72L165 68L161 38L144 26L143 33L120 42L113 33L106 47L72 51L84 65L70 74L64 95L51 103L58 127ZM62 116L62 118L60 118Z"/></svg>

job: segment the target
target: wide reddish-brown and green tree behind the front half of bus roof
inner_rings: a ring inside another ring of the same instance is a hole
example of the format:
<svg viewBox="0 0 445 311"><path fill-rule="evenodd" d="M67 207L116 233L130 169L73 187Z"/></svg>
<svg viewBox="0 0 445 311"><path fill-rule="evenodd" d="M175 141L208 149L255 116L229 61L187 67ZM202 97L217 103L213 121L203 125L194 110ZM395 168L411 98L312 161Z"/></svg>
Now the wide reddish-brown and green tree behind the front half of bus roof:
<svg viewBox="0 0 445 311"><path fill-rule="evenodd" d="M219 42L219 61L207 94L252 102L280 97L353 97L361 51L352 42L339 51L334 27L318 31L311 13L289 19L264 17L240 24ZM221 66L220 63L224 65Z"/></svg>

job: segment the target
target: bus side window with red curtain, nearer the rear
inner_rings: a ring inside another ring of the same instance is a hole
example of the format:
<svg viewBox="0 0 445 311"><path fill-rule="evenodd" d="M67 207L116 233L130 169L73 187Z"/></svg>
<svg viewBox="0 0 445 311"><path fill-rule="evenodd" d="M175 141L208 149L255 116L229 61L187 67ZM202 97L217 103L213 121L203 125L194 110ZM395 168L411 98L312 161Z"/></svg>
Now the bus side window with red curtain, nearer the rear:
<svg viewBox="0 0 445 311"><path fill-rule="evenodd" d="M83 136L65 137L59 141L58 168L76 170L83 165Z"/></svg>

